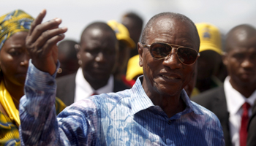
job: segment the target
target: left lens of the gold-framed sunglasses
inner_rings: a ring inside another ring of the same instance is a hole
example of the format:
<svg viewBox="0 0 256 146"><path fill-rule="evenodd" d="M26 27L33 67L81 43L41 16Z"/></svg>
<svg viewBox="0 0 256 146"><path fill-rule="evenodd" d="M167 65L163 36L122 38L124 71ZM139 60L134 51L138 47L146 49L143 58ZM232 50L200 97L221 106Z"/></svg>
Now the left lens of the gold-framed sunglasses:
<svg viewBox="0 0 256 146"><path fill-rule="evenodd" d="M164 43L154 42L151 44L151 55L157 59L165 58L171 50L172 47Z"/></svg>

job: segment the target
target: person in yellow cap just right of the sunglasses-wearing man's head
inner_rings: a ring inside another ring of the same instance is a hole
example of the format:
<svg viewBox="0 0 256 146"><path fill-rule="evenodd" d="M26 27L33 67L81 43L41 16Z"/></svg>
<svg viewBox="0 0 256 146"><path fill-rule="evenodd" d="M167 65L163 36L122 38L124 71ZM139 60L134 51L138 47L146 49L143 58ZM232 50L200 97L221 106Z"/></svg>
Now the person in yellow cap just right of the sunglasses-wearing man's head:
<svg viewBox="0 0 256 146"><path fill-rule="evenodd" d="M207 91L222 85L215 73L222 64L222 43L219 28L209 23L196 23L200 37L200 58L198 58L197 82L195 87Z"/></svg>

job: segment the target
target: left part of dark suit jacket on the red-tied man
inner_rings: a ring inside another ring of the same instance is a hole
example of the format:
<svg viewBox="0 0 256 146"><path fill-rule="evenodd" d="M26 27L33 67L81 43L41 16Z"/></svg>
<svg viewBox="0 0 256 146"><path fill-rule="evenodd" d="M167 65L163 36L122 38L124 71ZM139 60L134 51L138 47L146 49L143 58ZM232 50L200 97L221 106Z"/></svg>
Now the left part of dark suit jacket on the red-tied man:
<svg viewBox="0 0 256 146"><path fill-rule="evenodd" d="M230 127L229 127L229 112L227 112L227 101L225 97L224 87L220 86L218 88L213 88L209 91L200 93L198 96L194 96L191 99L197 104L206 107L206 109L214 112L215 115L219 118L220 123L222 124L225 145L232 145L230 139Z"/></svg>

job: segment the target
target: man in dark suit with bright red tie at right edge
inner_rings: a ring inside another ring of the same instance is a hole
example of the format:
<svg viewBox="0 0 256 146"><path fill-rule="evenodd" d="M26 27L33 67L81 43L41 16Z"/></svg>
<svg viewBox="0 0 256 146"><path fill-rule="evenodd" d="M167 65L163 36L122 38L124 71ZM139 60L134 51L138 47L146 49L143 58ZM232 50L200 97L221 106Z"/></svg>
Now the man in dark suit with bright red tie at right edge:
<svg viewBox="0 0 256 146"><path fill-rule="evenodd" d="M256 99L256 29L233 28L226 37L223 63L228 77L224 86L192 98L219 118L226 145L246 145L246 127Z"/></svg>

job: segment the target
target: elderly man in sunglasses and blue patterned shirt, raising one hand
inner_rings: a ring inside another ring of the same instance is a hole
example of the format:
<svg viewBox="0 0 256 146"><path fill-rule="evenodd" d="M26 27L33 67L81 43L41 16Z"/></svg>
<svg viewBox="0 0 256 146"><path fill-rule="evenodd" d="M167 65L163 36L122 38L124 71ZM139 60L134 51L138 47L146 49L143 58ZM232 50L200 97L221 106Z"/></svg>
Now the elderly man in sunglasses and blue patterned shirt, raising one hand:
<svg viewBox="0 0 256 146"><path fill-rule="evenodd" d="M34 23L32 34L48 30L48 23ZM53 37L42 37L48 36ZM49 55L52 50L43 49L45 56L29 64L26 96L20 101L22 145L225 145L217 117L182 89L192 77L199 44L189 18L171 12L155 15L138 43L144 76L129 90L78 101L58 118L53 110L58 63Z"/></svg>

